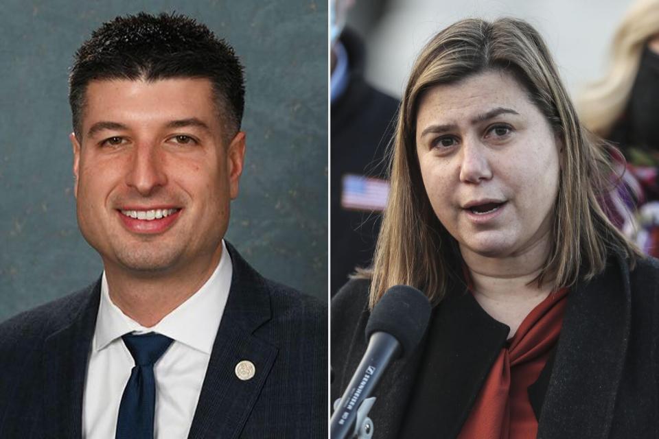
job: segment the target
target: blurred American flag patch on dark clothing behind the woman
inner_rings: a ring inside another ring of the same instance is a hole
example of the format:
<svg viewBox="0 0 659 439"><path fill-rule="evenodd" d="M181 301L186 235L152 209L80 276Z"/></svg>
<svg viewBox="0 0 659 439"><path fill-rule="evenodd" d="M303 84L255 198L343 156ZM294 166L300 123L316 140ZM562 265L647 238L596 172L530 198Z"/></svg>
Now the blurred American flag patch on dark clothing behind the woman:
<svg viewBox="0 0 659 439"><path fill-rule="evenodd" d="M383 211L389 182L380 178L345 174L341 178L341 207L356 211Z"/></svg>

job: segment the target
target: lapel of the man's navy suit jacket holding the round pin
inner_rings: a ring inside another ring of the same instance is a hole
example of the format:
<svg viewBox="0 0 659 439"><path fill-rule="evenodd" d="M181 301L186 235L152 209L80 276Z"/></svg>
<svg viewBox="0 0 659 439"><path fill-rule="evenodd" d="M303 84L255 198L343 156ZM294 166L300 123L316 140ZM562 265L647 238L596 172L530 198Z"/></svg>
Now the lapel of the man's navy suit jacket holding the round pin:
<svg viewBox="0 0 659 439"><path fill-rule="evenodd" d="M264 281L228 243L227 248L233 264L231 292L213 344L190 439L238 438L277 356L277 348L269 340L253 334L270 320L270 295ZM242 360L254 364L252 379L238 379L235 366Z"/></svg>

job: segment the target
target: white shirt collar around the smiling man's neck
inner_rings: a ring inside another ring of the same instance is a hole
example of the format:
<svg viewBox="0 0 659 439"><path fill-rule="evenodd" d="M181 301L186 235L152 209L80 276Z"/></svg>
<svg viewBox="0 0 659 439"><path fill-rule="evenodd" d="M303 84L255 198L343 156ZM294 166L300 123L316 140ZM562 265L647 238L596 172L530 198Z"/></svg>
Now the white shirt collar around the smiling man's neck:
<svg viewBox="0 0 659 439"><path fill-rule="evenodd" d="M112 302L106 274L103 272L92 349L100 351L117 338L133 331L157 332L210 355L229 298L232 274L231 257L222 240L220 263L206 283L160 322L146 328L126 316ZM212 330L209 331L209 328Z"/></svg>

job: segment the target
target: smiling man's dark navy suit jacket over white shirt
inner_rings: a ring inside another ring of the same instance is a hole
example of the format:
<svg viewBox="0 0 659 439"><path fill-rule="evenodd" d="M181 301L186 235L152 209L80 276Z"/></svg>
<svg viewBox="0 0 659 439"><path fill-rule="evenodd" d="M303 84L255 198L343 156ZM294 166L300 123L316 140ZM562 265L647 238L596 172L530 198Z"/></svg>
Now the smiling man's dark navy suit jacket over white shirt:
<svg viewBox="0 0 659 439"><path fill-rule="evenodd" d="M189 438L326 438L327 307L259 276L233 278ZM0 438L82 437L100 281L0 325ZM256 375L240 381L242 359Z"/></svg>

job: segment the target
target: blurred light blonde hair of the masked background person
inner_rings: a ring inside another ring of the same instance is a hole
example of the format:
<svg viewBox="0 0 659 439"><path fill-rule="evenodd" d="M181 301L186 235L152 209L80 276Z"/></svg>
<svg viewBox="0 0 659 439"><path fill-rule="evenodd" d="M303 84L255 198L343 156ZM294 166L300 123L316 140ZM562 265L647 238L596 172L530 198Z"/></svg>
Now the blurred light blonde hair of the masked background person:
<svg viewBox="0 0 659 439"><path fill-rule="evenodd" d="M583 124L608 137L632 93L643 48L659 33L659 0L641 0L625 14L611 46L611 62L604 78L593 82L577 99Z"/></svg>

